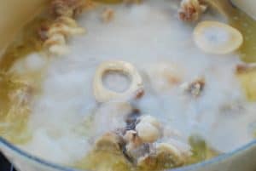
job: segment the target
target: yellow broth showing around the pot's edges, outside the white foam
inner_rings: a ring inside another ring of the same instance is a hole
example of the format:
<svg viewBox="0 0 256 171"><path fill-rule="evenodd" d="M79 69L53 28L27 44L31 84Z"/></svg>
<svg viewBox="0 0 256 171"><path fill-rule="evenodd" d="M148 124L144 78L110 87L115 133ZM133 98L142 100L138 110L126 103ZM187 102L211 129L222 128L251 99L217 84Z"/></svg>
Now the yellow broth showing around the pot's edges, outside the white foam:
<svg viewBox="0 0 256 171"><path fill-rule="evenodd" d="M98 2L120 3L120 0L98 0ZM20 112L19 109L16 109L10 112L9 109L11 106L15 106L15 102L9 100L9 94L15 91L15 89L20 88L20 86L22 87L22 84L16 83L15 78L5 75L5 71L8 71L16 60L25 57L26 54L42 49L42 43L37 37L37 30L38 26L44 21L45 20L37 18L29 23L23 31L20 32L15 42L9 46L0 61L1 72L3 72L2 76L0 76L0 104L4 106L0 109L0 134L15 144L22 144L30 139L29 130L26 128L30 111L24 110ZM255 21L241 11L236 10L236 12L232 12L232 16L230 16L230 24L240 30L244 36L244 43L239 49L241 59L246 62L256 62ZM37 78L39 81L40 74L34 74L30 77ZM249 100L256 100L255 77L256 71L243 73L239 76ZM36 86L39 87L39 85ZM22 132L22 134L20 134L20 132ZM195 140L195 138L196 137L192 137L190 139L193 155L187 164L201 162L218 155L218 152L212 151L203 140L199 138ZM97 171L106 170L106 168L112 171L134 170L131 163L126 162L121 154L106 151L90 153L88 156L84 157L83 160L75 163L74 167ZM145 168L137 168L137 170L143 171Z"/></svg>

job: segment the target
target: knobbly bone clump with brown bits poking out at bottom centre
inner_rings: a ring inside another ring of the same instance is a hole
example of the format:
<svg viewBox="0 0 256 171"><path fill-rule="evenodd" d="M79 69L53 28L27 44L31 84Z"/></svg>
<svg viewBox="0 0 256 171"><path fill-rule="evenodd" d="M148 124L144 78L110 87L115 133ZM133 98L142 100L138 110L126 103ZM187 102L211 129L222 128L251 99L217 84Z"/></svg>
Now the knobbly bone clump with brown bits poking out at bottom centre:
<svg viewBox="0 0 256 171"><path fill-rule="evenodd" d="M151 116L138 119L135 129L103 134L96 140L96 150L123 153L139 168L174 168L183 165L189 150L175 141L155 142L160 138L160 123Z"/></svg>

